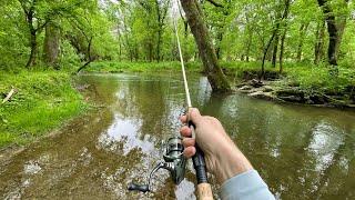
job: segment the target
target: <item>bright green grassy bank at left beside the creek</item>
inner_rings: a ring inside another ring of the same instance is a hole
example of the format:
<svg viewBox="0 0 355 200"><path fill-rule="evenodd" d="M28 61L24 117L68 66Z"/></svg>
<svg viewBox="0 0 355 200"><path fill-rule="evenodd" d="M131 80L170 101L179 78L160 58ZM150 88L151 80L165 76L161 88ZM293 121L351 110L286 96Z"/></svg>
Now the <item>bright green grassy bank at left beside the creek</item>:
<svg viewBox="0 0 355 200"><path fill-rule="evenodd" d="M0 148L26 144L87 108L71 78L58 71L0 73L0 94L19 91L0 104ZM3 97L1 98L3 99Z"/></svg>

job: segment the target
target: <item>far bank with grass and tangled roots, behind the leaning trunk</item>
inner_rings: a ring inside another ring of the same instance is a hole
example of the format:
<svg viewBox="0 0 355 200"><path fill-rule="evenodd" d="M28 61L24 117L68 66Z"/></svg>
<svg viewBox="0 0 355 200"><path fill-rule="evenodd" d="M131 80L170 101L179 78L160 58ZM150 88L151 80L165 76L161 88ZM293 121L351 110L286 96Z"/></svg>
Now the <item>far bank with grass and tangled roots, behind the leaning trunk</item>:
<svg viewBox="0 0 355 200"><path fill-rule="evenodd" d="M200 62L187 62L190 72L203 72ZM324 107L355 107L355 70L339 66L331 69L325 64L286 62L282 73L278 68L266 64L265 80L255 82L260 74L260 62L221 62L229 79L237 90L251 97ZM92 63L87 72L163 72L180 71L180 62L114 62Z"/></svg>

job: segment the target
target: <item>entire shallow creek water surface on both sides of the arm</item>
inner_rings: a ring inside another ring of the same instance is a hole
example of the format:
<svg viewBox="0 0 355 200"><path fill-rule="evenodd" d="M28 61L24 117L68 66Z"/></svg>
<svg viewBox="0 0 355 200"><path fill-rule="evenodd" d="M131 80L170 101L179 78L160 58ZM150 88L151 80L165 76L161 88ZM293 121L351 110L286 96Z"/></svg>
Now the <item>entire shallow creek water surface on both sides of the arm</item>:
<svg viewBox="0 0 355 200"><path fill-rule="evenodd" d="M222 121L277 198L355 199L354 112L214 96L206 78L189 81L193 106ZM179 187L162 170L153 193L126 190L146 180L161 141L179 132L180 76L90 74L78 82L99 109L1 158L0 198L195 199L191 164Z"/></svg>

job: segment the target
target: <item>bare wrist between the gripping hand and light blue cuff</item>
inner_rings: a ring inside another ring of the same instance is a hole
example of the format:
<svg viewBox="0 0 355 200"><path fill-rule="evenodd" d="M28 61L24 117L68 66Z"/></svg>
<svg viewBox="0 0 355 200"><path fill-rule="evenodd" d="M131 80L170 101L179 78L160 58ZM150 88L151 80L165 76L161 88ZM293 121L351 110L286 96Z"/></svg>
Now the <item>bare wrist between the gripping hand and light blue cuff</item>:
<svg viewBox="0 0 355 200"><path fill-rule="evenodd" d="M230 144L221 146L216 161L217 168L215 174L221 184L236 174L253 169L250 161L232 141Z"/></svg>

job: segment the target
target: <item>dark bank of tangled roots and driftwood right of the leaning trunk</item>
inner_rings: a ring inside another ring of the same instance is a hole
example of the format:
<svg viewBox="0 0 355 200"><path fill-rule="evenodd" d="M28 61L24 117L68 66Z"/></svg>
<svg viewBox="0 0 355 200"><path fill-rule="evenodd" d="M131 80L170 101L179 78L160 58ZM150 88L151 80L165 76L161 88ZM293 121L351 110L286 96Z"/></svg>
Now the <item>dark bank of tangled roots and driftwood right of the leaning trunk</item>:
<svg viewBox="0 0 355 200"><path fill-rule="evenodd" d="M256 76L256 72L245 71L236 90L257 99L355 110L354 86L348 86L343 91L321 91L286 82L275 72L266 72L264 81L258 81Z"/></svg>

